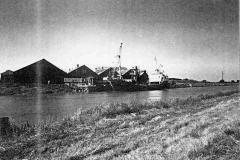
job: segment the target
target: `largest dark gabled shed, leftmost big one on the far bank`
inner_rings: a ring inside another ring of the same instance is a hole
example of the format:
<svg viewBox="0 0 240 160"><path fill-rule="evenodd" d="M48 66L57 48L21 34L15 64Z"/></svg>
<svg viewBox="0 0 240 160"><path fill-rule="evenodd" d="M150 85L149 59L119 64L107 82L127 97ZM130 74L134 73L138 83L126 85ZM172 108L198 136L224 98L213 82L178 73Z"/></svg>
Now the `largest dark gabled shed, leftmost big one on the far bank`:
<svg viewBox="0 0 240 160"><path fill-rule="evenodd" d="M13 75L15 83L61 84L67 73L42 59L15 71Z"/></svg>

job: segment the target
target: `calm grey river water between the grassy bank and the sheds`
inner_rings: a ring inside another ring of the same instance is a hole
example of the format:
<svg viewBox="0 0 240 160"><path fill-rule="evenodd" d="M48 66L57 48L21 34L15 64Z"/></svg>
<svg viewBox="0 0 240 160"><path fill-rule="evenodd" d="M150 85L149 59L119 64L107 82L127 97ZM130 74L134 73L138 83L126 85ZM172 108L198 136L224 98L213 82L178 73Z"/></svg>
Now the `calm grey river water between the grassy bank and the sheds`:
<svg viewBox="0 0 240 160"><path fill-rule="evenodd" d="M89 109L109 102L144 102L173 98L187 98L200 94L214 94L220 91L237 90L238 86L213 86L177 88L161 91L140 92L98 92L89 94L39 94L0 97L0 117L11 117L15 123L26 121L37 124L42 121L60 121L73 115L79 108Z"/></svg>

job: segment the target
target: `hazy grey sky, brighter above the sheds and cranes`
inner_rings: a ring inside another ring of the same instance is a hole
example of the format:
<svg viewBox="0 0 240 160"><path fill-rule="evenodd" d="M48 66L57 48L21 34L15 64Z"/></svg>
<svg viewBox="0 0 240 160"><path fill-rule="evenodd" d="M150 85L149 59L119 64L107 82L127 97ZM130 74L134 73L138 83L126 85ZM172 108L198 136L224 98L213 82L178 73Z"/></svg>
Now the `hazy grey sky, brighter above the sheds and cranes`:
<svg viewBox="0 0 240 160"><path fill-rule="evenodd" d="M169 77L239 78L238 0L0 0L0 73L45 58L68 72L139 66Z"/></svg>

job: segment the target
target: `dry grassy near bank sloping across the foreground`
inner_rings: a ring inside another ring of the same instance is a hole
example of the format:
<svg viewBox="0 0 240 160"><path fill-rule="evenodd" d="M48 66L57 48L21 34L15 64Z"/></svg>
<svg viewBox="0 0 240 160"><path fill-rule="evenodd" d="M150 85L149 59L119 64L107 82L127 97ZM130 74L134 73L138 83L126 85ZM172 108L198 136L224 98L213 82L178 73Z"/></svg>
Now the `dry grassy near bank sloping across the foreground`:
<svg viewBox="0 0 240 160"><path fill-rule="evenodd" d="M110 103L39 126L12 124L0 159L237 159L239 91Z"/></svg>

